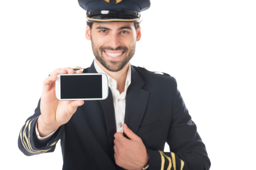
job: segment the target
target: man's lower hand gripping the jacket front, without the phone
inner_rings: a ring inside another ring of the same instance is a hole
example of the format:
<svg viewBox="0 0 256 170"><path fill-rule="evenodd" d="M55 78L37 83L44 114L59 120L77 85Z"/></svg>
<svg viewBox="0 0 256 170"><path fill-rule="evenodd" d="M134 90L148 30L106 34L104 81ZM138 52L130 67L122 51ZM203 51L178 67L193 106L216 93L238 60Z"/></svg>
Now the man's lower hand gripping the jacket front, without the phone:
<svg viewBox="0 0 256 170"><path fill-rule="evenodd" d="M141 170L148 163L148 153L141 138L123 124L124 133L130 138L127 139L123 133L115 133L114 151L115 160L118 166L125 169Z"/></svg>

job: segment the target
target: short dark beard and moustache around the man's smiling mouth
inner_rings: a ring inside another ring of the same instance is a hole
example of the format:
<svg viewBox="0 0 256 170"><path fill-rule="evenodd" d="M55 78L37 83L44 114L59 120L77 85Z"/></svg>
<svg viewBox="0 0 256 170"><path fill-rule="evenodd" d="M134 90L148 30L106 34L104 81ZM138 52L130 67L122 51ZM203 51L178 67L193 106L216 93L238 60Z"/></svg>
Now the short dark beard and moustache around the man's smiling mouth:
<svg viewBox="0 0 256 170"><path fill-rule="evenodd" d="M110 46L100 46L99 49L97 49L97 46L93 43L92 37L91 37L91 46L92 46L92 52L95 56L95 58L99 61L100 64L102 64L105 68L107 68L109 71L120 71L124 68L124 66L130 61L130 59L133 57L135 53L136 44L131 47L131 50L129 50L126 46L118 46L117 48L112 48ZM106 58L103 57L103 51L105 50L122 50L124 51L126 55L123 56L123 60L121 61L109 61Z"/></svg>

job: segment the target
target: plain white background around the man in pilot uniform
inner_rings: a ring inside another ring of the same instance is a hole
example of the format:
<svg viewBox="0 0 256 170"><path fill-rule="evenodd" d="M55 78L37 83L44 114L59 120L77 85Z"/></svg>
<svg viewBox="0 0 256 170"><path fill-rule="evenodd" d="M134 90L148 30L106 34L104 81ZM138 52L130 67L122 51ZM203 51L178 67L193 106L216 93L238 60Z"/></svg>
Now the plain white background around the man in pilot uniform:
<svg viewBox="0 0 256 170"><path fill-rule="evenodd" d="M255 8L247 0L152 0L142 12L131 63L177 79L211 169L255 168ZM77 1L0 2L0 169L62 168L59 144L28 157L17 140L43 79L58 67L90 66L85 15Z"/></svg>

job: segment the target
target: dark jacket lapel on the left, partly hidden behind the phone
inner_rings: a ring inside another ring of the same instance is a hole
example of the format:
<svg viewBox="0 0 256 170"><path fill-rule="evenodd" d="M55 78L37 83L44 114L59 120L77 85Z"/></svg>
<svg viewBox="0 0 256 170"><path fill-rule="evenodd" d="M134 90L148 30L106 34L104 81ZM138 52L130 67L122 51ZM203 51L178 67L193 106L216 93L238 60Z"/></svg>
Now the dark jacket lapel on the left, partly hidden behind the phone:
<svg viewBox="0 0 256 170"><path fill-rule="evenodd" d="M83 70L83 73L97 73L93 62L90 67ZM114 155L114 134L117 132L117 130L116 130L116 119L115 119L113 96L110 88L109 88L108 98L105 100L99 100L99 102L104 110L109 144L110 144L111 151Z"/></svg>

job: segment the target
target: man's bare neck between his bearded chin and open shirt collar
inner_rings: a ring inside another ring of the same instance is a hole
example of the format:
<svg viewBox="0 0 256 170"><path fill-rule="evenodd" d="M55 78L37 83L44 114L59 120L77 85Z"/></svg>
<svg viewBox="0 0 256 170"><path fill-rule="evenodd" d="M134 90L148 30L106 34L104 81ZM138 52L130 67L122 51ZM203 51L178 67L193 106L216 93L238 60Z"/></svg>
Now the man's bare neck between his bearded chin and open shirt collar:
<svg viewBox="0 0 256 170"><path fill-rule="evenodd" d="M112 78L114 78L117 81L117 90L119 91L119 93L121 94L122 92L124 92L125 80L126 80L127 71L129 68L129 63L127 63L124 66L124 68L122 68L119 71L110 71L107 68L105 68L96 58L95 58L95 61L98 64L98 66L101 69L103 69L103 71L105 71L107 74L109 74Z"/></svg>

